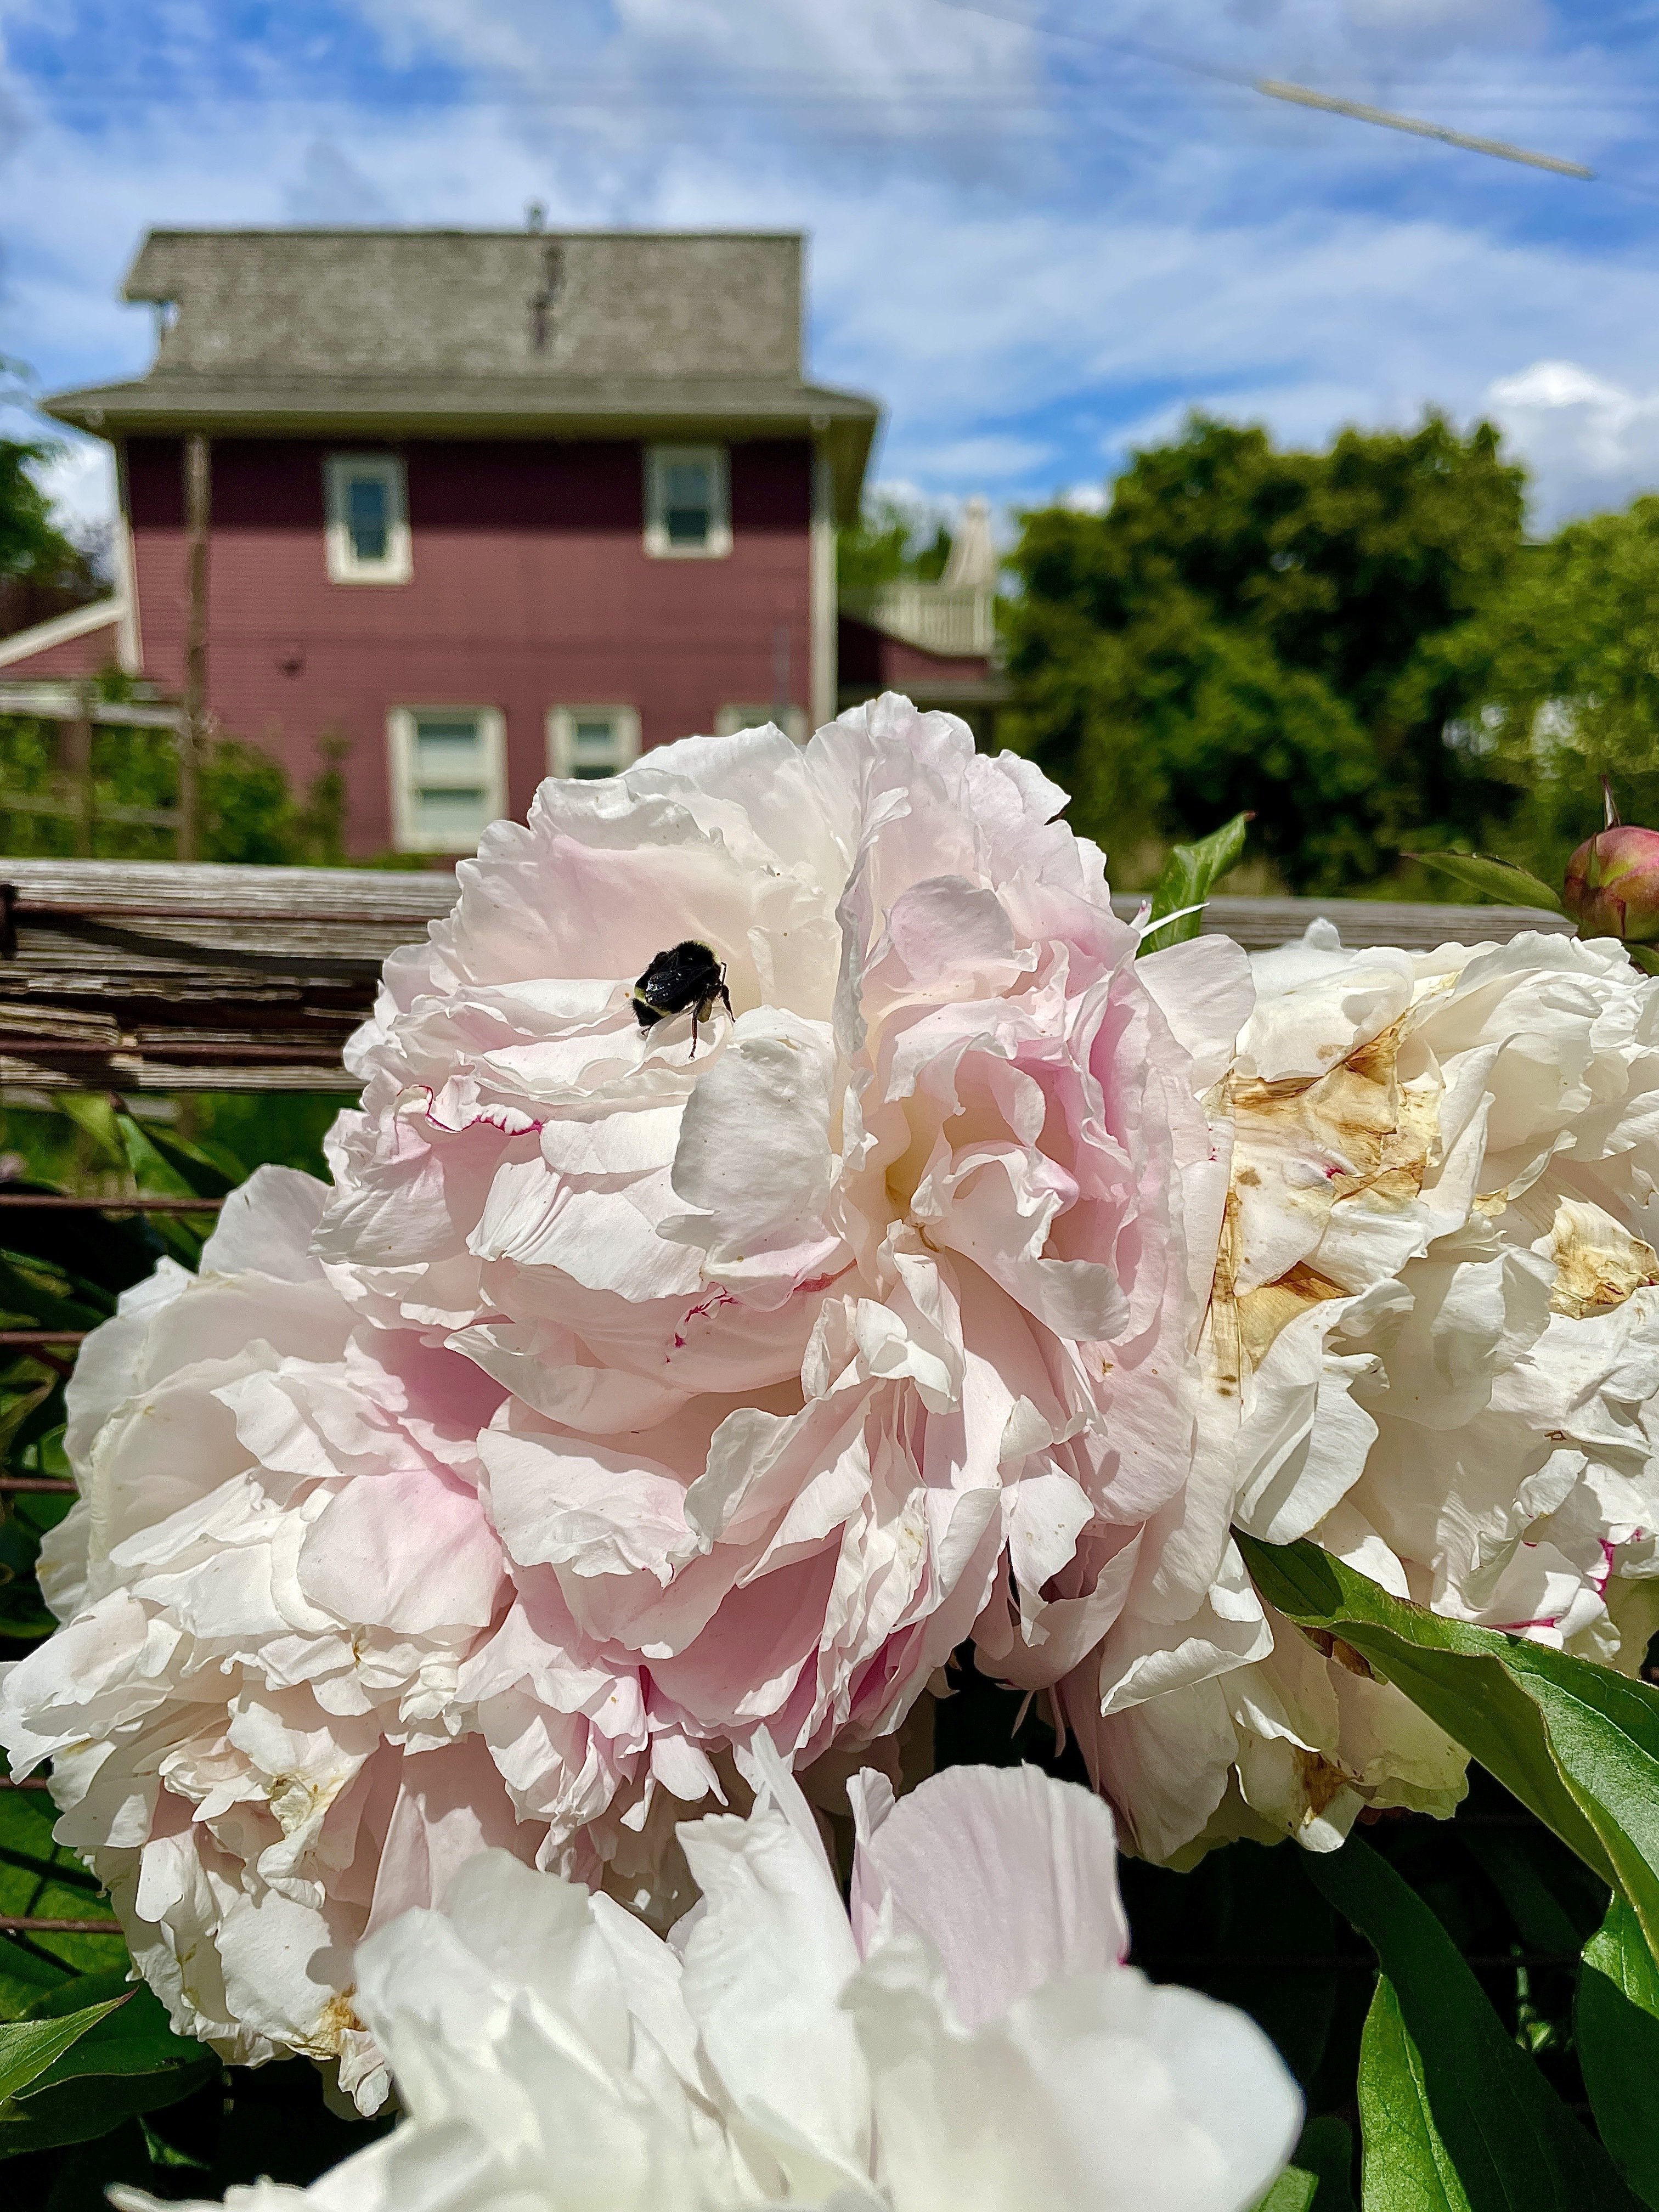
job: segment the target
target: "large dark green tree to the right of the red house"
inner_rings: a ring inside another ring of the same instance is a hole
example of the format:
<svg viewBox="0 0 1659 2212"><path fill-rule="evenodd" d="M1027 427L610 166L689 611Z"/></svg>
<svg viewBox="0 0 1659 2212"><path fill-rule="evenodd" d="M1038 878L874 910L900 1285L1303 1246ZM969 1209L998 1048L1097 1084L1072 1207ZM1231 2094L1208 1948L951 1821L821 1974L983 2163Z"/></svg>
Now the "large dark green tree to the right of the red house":
<svg viewBox="0 0 1659 2212"><path fill-rule="evenodd" d="M1467 626L1522 546L1522 471L1478 425L1343 431L1276 451L1192 416L1135 453L1102 515L1024 518L1009 617L1013 741L1119 854L1241 807L1296 889L1374 883L1413 838L1478 836L1515 801L1447 745Z"/></svg>

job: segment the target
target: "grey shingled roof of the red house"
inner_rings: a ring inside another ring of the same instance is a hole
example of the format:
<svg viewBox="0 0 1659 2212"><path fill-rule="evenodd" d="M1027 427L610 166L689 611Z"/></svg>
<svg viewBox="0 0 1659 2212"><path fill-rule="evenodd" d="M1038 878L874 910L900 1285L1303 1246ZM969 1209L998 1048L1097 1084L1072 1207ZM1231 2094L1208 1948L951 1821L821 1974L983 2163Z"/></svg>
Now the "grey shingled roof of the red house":
<svg viewBox="0 0 1659 2212"><path fill-rule="evenodd" d="M880 409L801 369L801 232L155 230L142 378L60 392L122 431L830 438L856 511Z"/></svg>

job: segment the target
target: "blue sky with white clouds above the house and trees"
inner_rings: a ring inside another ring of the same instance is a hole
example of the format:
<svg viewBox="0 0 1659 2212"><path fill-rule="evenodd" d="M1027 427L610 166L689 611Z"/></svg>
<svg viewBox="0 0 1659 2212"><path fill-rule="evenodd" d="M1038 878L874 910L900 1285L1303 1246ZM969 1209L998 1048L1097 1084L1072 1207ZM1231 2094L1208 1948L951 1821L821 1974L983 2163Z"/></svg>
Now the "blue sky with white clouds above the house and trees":
<svg viewBox="0 0 1659 2212"><path fill-rule="evenodd" d="M1097 502L1192 405L1316 440L1436 403L1546 526L1659 487L1657 119L1652 0L0 0L0 354L142 369L150 223L801 223L887 484ZM91 451L51 480L108 498Z"/></svg>

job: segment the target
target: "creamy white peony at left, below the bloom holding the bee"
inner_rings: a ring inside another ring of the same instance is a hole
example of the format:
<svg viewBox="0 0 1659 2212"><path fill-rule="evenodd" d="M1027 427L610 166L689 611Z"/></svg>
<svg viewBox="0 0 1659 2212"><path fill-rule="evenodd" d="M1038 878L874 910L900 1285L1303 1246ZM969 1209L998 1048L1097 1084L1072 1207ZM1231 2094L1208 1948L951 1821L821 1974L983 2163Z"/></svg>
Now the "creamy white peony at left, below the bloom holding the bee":
<svg viewBox="0 0 1659 2212"><path fill-rule="evenodd" d="M122 1298L69 1385L82 1495L4 1670L13 1772L53 1761L175 2026L226 2057L383 2075L349 2006L365 1927L467 1854L535 1854L458 1681L511 1582L478 1498L500 1389L363 1323L307 1252L323 1188L261 1168L201 1274Z"/></svg>

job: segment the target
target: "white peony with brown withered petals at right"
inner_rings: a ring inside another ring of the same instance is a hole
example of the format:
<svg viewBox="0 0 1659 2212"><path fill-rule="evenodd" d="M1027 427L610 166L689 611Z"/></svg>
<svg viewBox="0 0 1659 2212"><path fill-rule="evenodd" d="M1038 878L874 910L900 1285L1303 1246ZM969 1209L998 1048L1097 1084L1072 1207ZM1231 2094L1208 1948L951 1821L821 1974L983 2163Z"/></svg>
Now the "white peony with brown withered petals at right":
<svg viewBox="0 0 1659 2212"><path fill-rule="evenodd" d="M1630 1672L1659 1621L1659 987L1608 945L1329 922L1252 971L1194 1480L1060 1699L1157 1858L1464 1790L1398 1690L1265 1613L1230 1522Z"/></svg>

